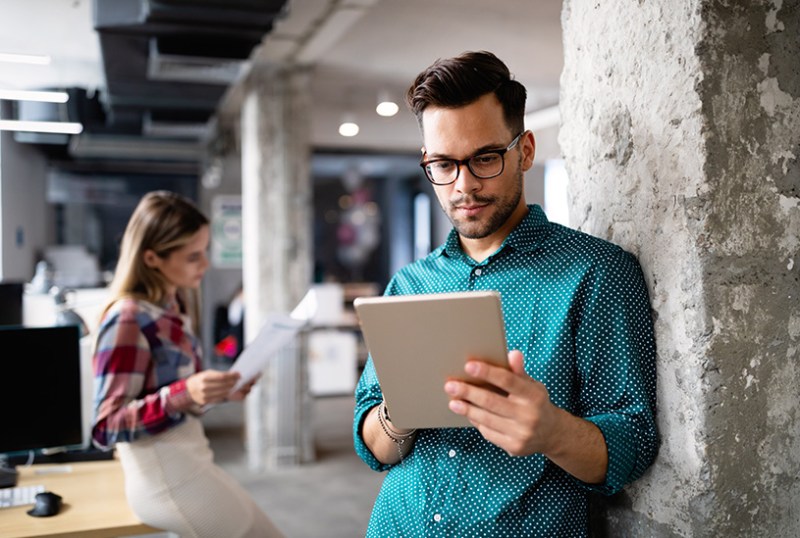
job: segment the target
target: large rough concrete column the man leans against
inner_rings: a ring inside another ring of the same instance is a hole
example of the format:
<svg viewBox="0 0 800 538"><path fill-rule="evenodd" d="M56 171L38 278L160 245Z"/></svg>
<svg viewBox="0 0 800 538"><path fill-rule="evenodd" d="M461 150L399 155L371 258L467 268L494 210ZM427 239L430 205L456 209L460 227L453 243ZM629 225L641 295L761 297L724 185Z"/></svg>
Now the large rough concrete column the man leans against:
<svg viewBox="0 0 800 538"><path fill-rule="evenodd" d="M571 222L638 255L654 467L598 536L800 536L798 0L565 0Z"/></svg>

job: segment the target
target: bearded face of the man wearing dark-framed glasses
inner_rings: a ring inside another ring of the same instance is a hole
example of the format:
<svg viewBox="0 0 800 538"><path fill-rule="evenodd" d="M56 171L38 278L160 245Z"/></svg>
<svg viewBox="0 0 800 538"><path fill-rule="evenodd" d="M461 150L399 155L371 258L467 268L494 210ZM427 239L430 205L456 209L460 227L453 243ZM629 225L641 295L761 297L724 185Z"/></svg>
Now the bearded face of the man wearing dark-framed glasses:
<svg viewBox="0 0 800 538"><path fill-rule="evenodd" d="M508 146L512 133L494 94L461 108L428 107L422 115L425 158L466 159ZM533 135L525 133L505 156L503 173L478 179L462 165L458 179L434 185L439 203L456 231L467 239L505 238L525 215L523 173L533 163ZM502 240L502 239L501 239Z"/></svg>

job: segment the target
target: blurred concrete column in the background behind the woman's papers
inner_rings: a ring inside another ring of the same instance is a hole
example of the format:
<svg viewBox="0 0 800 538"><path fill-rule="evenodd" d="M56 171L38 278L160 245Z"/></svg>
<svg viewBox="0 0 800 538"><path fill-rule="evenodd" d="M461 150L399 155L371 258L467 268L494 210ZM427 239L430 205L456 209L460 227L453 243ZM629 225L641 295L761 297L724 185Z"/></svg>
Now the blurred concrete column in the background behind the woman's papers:
<svg viewBox="0 0 800 538"><path fill-rule="evenodd" d="M312 282L307 73L262 68L242 108L245 340L270 312L289 313ZM279 353L245 405L253 470L310 457L308 395L299 344Z"/></svg>

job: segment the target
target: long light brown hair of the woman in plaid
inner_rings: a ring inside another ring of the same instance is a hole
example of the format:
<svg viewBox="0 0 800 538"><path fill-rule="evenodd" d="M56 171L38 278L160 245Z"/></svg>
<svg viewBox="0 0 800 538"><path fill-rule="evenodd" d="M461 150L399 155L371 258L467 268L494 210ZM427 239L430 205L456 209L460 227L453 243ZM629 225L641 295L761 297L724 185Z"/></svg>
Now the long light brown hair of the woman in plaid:
<svg viewBox="0 0 800 538"><path fill-rule="evenodd" d="M152 250L159 257L169 256L185 246L208 223L208 218L179 194L169 191L145 194L133 210L122 236L119 259L109 286L109 306L122 297L162 304L166 298L167 281L161 272L145 264L145 251ZM178 290L178 299L185 307L196 307L197 298L190 297L188 291Z"/></svg>

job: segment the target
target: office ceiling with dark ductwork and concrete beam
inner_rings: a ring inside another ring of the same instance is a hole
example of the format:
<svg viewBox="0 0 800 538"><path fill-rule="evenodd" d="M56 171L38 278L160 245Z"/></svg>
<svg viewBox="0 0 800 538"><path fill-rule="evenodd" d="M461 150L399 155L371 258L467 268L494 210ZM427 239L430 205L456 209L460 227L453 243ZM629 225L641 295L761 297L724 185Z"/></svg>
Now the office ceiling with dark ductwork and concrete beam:
<svg viewBox="0 0 800 538"><path fill-rule="evenodd" d="M198 164L209 128L236 120L243 78L278 62L310 69L320 149L415 151L402 94L433 60L464 50L504 59L529 111L558 99L561 0L0 0L0 12L0 52L52 58L0 63L0 89L71 96L2 110L83 123L79 135L17 135L64 161ZM401 105L392 118L374 111L382 92ZM361 126L351 138L337 132L345 114Z"/></svg>

